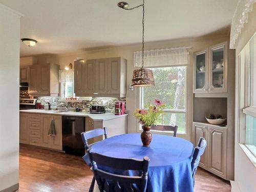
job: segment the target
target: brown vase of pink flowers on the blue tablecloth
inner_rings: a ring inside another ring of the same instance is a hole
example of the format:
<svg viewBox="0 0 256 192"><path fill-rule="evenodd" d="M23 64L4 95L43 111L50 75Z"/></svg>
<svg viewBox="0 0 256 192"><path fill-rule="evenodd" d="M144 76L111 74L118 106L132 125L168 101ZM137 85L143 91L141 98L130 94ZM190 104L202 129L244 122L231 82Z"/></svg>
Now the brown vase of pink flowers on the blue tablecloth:
<svg viewBox="0 0 256 192"><path fill-rule="evenodd" d="M152 141L152 133L150 132L151 126L156 124L157 120L161 117L163 113L164 104L155 99L155 105L148 103L145 105L145 109L136 109L134 117L139 120L142 125L143 132L141 133L141 141L143 146L150 146Z"/></svg>

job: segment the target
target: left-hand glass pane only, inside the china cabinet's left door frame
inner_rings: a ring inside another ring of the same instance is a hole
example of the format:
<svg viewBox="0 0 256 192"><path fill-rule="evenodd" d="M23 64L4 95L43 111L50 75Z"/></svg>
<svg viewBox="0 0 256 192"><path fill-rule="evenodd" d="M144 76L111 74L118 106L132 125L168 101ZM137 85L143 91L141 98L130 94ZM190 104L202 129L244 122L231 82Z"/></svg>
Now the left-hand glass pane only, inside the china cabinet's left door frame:
<svg viewBox="0 0 256 192"><path fill-rule="evenodd" d="M196 56L196 89L205 86L205 53Z"/></svg>

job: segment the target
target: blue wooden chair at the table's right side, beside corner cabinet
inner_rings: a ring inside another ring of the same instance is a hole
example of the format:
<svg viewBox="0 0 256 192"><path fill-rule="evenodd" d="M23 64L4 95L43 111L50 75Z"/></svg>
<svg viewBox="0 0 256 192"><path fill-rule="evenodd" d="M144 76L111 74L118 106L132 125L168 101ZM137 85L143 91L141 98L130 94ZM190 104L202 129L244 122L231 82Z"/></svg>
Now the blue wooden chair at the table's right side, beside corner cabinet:
<svg viewBox="0 0 256 192"><path fill-rule="evenodd" d="M195 147L195 151L193 154L193 159L191 161L191 169L192 169L192 177L193 177L193 184L195 186L195 175L197 172L197 167L200 162L200 157L203 155L205 148L206 148L207 142L203 137L200 137L199 142L197 146Z"/></svg>

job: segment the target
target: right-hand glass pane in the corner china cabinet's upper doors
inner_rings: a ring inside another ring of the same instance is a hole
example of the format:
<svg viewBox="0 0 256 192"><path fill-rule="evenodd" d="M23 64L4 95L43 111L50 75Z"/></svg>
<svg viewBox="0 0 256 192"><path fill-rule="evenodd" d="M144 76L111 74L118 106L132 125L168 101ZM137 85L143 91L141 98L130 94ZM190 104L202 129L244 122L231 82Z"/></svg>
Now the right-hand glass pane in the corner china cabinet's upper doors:
<svg viewBox="0 0 256 192"><path fill-rule="evenodd" d="M223 88L224 47L212 50L212 86Z"/></svg>

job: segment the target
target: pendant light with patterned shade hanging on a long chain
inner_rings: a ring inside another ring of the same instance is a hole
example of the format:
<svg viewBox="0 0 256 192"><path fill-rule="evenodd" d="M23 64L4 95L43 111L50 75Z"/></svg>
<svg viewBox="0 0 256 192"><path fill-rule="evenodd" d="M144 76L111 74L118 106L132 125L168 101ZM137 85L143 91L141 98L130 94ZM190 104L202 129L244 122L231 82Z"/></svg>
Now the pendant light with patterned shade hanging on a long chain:
<svg viewBox="0 0 256 192"><path fill-rule="evenodd" d="M142 13L143 13L143 16L142 16L142 66L140 69L136 69L133 71L133 78L132 78L131 86L134 86L134 87L155 86L153 71L150 69L144 68L144 22L145 22L144 2L145 2L145 0L143 0L143 4L133 7L133 8L128 8L129 4L126 2L119 2L117 4L118 7L125 9L125 10L133 10L133 9L142 7Z"/></svg>

